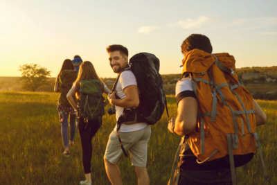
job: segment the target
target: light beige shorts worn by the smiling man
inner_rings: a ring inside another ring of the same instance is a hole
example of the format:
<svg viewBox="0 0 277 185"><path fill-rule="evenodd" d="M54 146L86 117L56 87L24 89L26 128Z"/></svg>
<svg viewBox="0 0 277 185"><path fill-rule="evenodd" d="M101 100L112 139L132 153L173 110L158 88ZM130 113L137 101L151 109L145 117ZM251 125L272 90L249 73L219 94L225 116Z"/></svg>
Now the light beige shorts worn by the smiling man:
<svg viewBox="0 0 277 185"><path fill-rule="evenodd" d="M142 130L134 132L119 132L120 139L125 150L129 150L132 166L146 167L148 155L148 141L151 136L151 127L147 125ZM109 134L109 141L105 152L105 158L111 164L117 164L123 155L116 131Z"/></svg>

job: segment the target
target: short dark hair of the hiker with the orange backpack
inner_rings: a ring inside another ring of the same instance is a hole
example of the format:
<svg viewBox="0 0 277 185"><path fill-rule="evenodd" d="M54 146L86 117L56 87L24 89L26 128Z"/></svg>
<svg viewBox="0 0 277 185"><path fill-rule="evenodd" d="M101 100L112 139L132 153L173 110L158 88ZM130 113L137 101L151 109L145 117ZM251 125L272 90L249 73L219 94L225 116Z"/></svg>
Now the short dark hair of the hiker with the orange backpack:
<svg viewBox="0 0 277 185"><path fill-rule="evenodd" d="M183 54L193 49L200 49L206 53L213 52L213 46L210 39L208 39L206 35L201 34L192 34L184 40L183 44L181 44L181 53Z"/></svg>

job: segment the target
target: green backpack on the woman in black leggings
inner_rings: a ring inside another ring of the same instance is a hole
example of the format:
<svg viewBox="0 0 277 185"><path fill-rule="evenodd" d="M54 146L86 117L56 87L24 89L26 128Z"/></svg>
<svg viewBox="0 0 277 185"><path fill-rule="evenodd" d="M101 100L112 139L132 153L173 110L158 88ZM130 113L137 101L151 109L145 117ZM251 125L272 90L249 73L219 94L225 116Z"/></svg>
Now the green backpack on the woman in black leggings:
<svg viewBox="0 0 277 185"><path fill-rule="evenodd" d="M89 78L80 82L80 97L78 98L78 118L87 121L99 121L102 125L102 116L105 115L104 97L98 80Z"/></svg>

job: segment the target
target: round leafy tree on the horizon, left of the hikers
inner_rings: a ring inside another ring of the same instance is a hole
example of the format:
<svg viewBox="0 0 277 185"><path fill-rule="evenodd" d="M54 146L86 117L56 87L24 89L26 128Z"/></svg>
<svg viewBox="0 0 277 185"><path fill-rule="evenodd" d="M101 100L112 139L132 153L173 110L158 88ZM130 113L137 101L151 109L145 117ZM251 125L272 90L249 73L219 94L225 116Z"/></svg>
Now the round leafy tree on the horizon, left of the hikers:
<svg viewBox="0 0 277 185"><path fill-rule="evenodd" d="M21 87L27 91L38 91L40 87L48 85L48 77L51 71L47 71L45 67L39 64L24 64L19 66L21 71Z"/></svg>

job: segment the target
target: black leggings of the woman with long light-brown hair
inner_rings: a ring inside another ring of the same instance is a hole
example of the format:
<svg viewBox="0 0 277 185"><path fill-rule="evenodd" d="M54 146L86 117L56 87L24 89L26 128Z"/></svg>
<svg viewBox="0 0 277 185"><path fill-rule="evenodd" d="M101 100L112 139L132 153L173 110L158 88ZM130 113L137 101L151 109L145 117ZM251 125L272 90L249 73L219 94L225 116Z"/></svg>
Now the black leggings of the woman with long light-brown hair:
<svg viewBox="0 0 277 185"><path fill-rule="evenodd" d="M99 128L99 121L89 121L89 123L84 123L84 119L80 118L78 129L82 146L82 166L84 167L84 174L91 173L91 140Z"/></svg>

